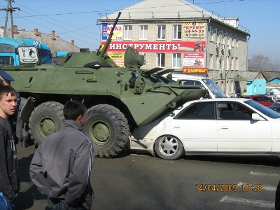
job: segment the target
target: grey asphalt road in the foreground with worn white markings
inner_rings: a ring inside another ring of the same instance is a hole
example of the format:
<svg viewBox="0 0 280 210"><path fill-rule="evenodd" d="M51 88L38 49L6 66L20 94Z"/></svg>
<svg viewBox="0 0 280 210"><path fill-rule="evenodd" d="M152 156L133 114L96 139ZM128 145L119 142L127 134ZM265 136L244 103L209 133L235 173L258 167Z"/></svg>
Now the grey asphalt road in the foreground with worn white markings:
<svg viewBox="0 0 280 210"><path fill-rule="evenodd" d="M22 189L17 210L48 209L48 200L29 178L35 150L34 145L18 148ZM274 209L279 165L274 157L191 156L170 161L123 153L96 158L92 209Z"/></svg>

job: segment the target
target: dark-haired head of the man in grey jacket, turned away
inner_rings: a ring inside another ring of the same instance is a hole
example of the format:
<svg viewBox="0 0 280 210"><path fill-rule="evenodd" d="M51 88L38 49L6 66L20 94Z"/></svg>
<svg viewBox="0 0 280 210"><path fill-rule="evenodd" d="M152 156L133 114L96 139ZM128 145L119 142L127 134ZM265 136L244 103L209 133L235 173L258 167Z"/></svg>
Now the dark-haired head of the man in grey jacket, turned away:
<svg viewBox="0 0 280 210"><path fill-rule="evenodd" d="M63 115L66 120L74 120L80 125L85 124L87 118L87 108L82 102L71 100L66 102L63 109Z"/></svg>

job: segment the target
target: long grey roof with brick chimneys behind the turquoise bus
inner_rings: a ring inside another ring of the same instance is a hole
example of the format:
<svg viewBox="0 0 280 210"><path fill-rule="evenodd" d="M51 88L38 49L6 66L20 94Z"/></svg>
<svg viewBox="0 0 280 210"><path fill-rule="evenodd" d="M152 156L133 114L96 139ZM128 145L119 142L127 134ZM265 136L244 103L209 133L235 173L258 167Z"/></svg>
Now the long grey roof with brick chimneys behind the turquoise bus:
<svg viewBox="0 0 280 210"><path fill-rule="evenodd" d="M0 36L3 37L4 29L0 28ZM10 29L7 29L6 31L7 36L11 37L11 31ZM50 34L44 34L39 32L40 36L36 36L34 34L34 31L23 31L18 30L18 34L14 34L14 38L33 38L37 41L41 41L41 43L46 43L48 47L50 48L51 52L80 52L80 48L78 48L75 45L72 45L71 43L64 41L63 39L59 38L58 36L55 36L55 40L52 40L50 37Z"/></svg>

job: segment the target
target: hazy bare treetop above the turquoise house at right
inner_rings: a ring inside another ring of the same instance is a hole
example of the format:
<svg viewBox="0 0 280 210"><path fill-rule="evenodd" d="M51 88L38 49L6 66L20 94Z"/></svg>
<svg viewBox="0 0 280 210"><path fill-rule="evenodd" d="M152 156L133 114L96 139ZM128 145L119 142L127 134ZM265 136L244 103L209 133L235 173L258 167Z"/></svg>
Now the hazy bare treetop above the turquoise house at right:
<svg viewBox="0 0 280 210"><path fill-rule="evenodd" d="M264 55L253 55L248 59L248 70L266 70L269 68L270 59Z"/></svg>

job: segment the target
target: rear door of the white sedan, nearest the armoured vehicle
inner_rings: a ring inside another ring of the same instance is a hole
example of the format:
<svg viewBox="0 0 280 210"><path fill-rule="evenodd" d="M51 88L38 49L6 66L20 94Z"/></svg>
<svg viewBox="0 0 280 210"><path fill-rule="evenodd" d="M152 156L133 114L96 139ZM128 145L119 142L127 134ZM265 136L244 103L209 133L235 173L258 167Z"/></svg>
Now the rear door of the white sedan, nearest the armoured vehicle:
<svg viewBox="0 0 280 210"><path fill-rule="evenodd" d="M172 132L183 141L186 152L217 152L214 102L197 102L172 120Z"/></svg>

